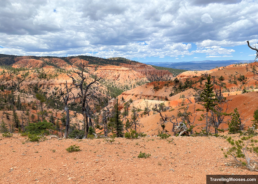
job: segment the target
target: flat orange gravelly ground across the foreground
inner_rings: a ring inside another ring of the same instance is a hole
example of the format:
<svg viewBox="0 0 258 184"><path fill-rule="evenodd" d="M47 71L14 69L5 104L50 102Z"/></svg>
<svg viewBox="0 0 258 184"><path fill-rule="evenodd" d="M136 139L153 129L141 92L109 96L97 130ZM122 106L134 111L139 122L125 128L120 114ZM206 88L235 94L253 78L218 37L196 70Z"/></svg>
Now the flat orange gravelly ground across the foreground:
<svg viewBox="0 0 258 184"><path fill-rule="evenodd" d="M221 148L229 144L222 137L115 138L112 144L108 139L0 137L0 183L199 184L206 183L206 174L256 174L223 157ZM70 145L81 151L68 153ZM151 156L138 158L140 151Z"/></svg>

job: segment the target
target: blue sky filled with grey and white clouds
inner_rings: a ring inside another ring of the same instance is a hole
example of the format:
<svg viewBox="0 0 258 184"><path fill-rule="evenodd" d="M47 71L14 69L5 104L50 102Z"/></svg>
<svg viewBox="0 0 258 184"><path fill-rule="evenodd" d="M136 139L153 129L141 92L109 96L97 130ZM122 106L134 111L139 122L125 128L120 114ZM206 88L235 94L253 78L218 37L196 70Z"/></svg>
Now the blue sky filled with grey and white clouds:
<svg viewBox="0 0 258 184"><path fill-rule="evenodd" d="M256 0L1 0L0 54L254 60L257 10Z"/></svg>

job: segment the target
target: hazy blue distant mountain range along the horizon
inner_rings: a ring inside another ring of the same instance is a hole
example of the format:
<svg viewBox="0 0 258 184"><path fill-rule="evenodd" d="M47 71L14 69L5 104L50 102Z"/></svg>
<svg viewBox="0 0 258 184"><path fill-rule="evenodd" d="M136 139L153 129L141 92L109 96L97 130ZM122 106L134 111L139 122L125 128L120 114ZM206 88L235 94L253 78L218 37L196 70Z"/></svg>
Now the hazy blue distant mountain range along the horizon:
<svg viewBox="0 0 258 184"><path fill-rule="evenodd" d="M238 63L250 63L254 62L254 60L219 60L219 61L189 61L189 62L145 62L145 64L162 66L167 68L175 68L175 69L184 69L184 70L211 70L216 68L217 66L228 66L231 64Z"/></svg>

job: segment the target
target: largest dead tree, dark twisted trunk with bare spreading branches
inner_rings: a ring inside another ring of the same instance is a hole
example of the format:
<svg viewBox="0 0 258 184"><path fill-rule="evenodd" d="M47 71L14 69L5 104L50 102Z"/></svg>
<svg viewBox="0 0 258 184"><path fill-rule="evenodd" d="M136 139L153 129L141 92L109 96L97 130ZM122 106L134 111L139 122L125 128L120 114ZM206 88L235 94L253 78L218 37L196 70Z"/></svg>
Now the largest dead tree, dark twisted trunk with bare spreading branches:
<svg viewBox="0 0 258 184"><path fill-rule="evenodd" d="M86 77L84 76L84 70L87 67L86 65L84 65L84 63L82 63L81 61L81 70L74 70L74 68L72 67L72 70L74 73L76 73L78 75L79 79L75 79L74 77L72 77L71 75L67 74L70 78L72 78L72 85L74 85L75 87L79 87L80 91L77 94L77 97L74 97L74 99L79 98L81 101L81 108L82 110L76 113L81 113L83 115L84 118L84 136L83 139L86 139L88 136L88 131L89 131L89 123L88 123L88 110L87 110L87 105L89 103L89 101L92 99L92 97L94 96L96 90L99 88L98 86L98 81L101 79L97 79L97 76L95 76L94 81L90 82L88 85L86 85L85 87L83 86L83 83L86 79ZM93 86L93 85L96 86ZM92 87L92 89L90 89Z"/></svg>

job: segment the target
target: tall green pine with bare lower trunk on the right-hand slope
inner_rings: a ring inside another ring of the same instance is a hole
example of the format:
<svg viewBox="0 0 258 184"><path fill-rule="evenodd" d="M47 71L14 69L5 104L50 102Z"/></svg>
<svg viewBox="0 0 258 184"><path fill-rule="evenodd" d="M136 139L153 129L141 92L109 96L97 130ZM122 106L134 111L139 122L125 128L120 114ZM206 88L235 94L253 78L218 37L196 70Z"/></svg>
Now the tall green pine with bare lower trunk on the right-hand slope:
<svg viewBox="0 0 258 184"><path fill-rule="evenodd" d="M201 105L206 109L206 133L208 133L208 112L213 109L217 104L215 103L215 98L213 98L215 94L213 93L213 84L211 83L211 75L207 77L207 82L205 82L205 87L200 94Z"/></svg>

